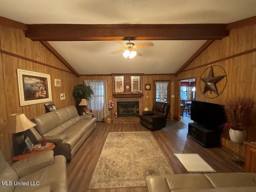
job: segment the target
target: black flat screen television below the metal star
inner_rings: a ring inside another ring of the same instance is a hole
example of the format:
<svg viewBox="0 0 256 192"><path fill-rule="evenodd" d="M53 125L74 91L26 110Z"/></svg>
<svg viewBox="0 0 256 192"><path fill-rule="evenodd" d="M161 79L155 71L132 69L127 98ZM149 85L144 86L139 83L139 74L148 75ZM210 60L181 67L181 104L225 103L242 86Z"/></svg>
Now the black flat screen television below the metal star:
<svg viewBox="0 0 256 192"><path fill-rule="evenodd" d="M190 118L206 129L220 130L220 126L226 123L224 105L192 101Z"/></svg>

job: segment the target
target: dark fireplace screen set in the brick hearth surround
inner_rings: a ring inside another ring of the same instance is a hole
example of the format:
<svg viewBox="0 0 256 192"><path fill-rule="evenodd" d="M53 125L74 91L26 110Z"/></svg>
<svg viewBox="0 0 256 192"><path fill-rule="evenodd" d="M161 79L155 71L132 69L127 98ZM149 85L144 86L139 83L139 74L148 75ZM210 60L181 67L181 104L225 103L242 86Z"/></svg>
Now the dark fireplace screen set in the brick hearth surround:
<svg viewBox="0 0 256 192"><path fill-rule="evenodd" d="M117 102L118 117L139 116L139 102Z"/></svg>

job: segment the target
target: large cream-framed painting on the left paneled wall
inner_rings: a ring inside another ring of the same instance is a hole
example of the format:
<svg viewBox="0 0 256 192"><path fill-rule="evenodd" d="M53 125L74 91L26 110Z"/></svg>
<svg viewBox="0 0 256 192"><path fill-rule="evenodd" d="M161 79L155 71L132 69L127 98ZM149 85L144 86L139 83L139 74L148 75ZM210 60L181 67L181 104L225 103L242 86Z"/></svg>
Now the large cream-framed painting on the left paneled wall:
<svg viewBox="0 0 256 192"><path fill-rule="evenodd" d="M17 69L20 106L52 101L49 74Z"/></svg>

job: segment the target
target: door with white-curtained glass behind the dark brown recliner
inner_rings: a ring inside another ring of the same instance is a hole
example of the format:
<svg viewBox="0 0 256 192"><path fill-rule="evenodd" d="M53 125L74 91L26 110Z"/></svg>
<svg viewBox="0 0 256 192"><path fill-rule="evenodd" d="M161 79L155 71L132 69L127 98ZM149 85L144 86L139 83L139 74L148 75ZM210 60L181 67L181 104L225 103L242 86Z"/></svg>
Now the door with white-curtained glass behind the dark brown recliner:
<svg viewBox="0 0 256 192"><path fill-rule="evenodd" d="M160 87L164 87L164 83L168 83L168 85L166 86L166 89L164 88L163 90L159 91L158 88ZM158 88L157 88L157 84L158 84ZM162 85L161 85L162 84ZM154 103L157 102L165 102L165 103L169 103L170 104L170 84L171 81L170 80L153 80L153 105ZM160 85L160 86L159 86ZM160 96L160 92L164 92L164 96ZM170 111L168 113L168 119L170 119Z"/></svg>

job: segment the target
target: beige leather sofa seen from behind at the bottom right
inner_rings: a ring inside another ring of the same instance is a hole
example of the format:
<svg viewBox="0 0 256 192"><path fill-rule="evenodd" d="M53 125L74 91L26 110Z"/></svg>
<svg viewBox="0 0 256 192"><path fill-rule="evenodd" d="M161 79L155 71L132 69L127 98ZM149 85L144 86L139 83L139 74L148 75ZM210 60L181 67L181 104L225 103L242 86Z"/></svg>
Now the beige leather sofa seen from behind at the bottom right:
<svg viewBox="0 0 256 192"><path fill-rule="evenodd" d="M148 192L256 192L256 173L148 176Z"/></svg>

